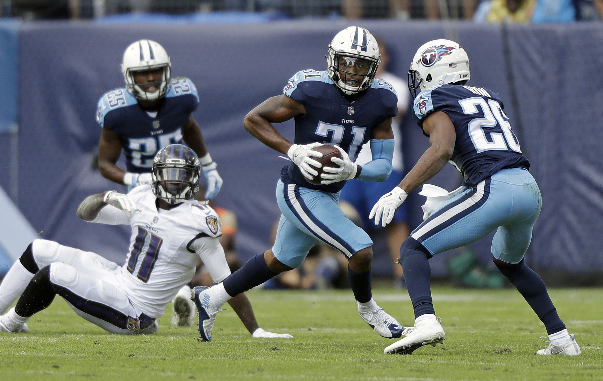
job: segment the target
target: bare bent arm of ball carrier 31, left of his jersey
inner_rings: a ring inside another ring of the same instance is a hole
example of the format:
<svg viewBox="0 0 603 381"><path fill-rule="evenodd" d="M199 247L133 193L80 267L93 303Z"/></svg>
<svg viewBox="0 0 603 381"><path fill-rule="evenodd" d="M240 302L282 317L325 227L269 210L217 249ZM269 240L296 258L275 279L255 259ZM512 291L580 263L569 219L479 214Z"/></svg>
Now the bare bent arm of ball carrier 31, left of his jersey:
<svg viewBox="0 0 603 381"><path fill-rule="evenodd" d="M286 154L292 143L285 139L272 125L282 123L297 115L305 114L306 109L300 102L286 95L277 95L266 99L251 110L243 121L245 130L257 140L273 150Z"/></svg>

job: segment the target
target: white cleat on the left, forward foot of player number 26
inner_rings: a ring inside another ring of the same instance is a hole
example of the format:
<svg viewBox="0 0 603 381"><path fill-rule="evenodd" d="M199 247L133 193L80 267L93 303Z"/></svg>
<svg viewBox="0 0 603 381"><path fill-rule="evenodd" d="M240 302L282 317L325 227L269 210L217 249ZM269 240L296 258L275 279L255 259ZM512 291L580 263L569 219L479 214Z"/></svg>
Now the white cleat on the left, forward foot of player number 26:
<svg viewBox="0 0 603 381"><path fill-rule="evenodd" d="M406 337L385 348L383 353L411 354L423 345L431 344L435 347L436 343L443 344L446 339L439 320L417 323L414 327L406 328L402 335Z"/></svg>

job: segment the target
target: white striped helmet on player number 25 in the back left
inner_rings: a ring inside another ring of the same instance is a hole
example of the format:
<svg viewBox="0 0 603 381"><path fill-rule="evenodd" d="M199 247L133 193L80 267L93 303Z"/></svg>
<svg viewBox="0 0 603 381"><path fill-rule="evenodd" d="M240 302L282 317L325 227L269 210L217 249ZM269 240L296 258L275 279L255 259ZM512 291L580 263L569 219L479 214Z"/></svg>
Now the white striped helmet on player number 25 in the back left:
<svg viewBox="0 0 603 381"><path fill-rule="evenodd" d="M163 46L151 40L138 40L128 46L124 52L121 72L124 74L125 87L137 99L149 101L159 99L168 91L171 66L169 55ZM148 92L139 85L152 85L153 83L136 84L132 73L152 69L163 69L163 75L162 80L155 83L159 89Z"/></svg>

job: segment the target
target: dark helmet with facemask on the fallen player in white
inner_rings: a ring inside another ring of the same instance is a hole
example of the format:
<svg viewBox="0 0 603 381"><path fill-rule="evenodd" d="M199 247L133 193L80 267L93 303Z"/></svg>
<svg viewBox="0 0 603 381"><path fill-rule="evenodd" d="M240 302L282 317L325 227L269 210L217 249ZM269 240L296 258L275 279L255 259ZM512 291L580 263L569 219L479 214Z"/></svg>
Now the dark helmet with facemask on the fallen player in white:
<svg viewBox="0 0 603 381"><path fill-rule="evenodd" d="M153 194L169 204L190 200L199 191L201 163L191 148L170 144L153 159L151 189Z"/></svg>

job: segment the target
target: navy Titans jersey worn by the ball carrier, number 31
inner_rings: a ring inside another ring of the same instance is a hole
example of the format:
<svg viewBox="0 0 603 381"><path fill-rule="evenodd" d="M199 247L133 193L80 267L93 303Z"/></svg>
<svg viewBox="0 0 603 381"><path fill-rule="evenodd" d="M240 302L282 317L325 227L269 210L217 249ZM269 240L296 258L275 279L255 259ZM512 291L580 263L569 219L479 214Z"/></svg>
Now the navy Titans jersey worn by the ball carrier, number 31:
<svg viewBox="0 0 603 381"><path fill-rule="evenodd" d="M304 115L295 117L295 143L338 145L353 162L362 145L370 139L373 127L398 113L396 91L378 78L354 102L341 95L326 71L297 72L283 92L306 109ZM285 184L298 184L324 192L339 192L346 184L346 181L329 185L311 184L293 163L285 165L280 175Z"/></svg>

